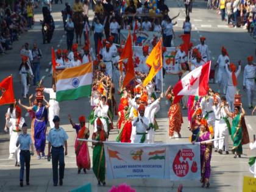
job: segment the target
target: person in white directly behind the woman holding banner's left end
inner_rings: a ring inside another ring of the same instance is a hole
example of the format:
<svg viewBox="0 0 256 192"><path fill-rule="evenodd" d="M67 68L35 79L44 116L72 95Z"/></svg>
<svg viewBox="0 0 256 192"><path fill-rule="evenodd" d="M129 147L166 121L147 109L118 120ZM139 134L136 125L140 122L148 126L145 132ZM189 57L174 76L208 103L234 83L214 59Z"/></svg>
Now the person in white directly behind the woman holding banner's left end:
<svg viewBox="0 0 256 192"><path fill-rule="evenodd" d="M105 96L102 96L101 101L98 104L98 107L96 107L94 111L94 116L96 115L101 119L101 122L103 124L105 132L108 132L108 105L107 105L107 98ZM94 121L94 132L97 132L97 123Z"/></svg>

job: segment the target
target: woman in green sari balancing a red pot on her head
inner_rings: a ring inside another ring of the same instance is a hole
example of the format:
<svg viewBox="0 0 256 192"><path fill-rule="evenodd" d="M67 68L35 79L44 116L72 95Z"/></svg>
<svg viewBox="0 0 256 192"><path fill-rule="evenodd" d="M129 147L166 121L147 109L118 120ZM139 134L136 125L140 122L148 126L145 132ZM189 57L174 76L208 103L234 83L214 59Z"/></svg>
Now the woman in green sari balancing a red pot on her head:
<svg viewBox="0 0 256 192"><path fill-rule="evenodd" d="M240 112L241 108L241 112ZM232 118L232 127L231 127L231 139L233 141L233 148L232 152L235 154L234 158L238 155L238 157L241 157L241 154L243 154L243 148L242 148L242 140L243 140L243 128L242 128L242 118L245 115L244 109L241 105L235 106L234 112L230 113L229 111L224 108L227 115Z"/></svg>

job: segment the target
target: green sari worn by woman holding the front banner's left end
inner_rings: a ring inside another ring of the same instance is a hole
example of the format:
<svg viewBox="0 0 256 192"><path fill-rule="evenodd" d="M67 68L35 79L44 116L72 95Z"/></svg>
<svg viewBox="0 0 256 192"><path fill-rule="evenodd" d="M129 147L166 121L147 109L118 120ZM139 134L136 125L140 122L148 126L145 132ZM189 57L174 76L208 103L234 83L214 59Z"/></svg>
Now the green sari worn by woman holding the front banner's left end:
<svg viewBox="0 0 256 192"><path fill-rule="evenodd" d="M103 131L99 132L99 134L97 132L93 134L96 135L96 141L105 141ZM93 148L93 172L98 181L105 181L105 154L103 144L96 144Z"/></svg>

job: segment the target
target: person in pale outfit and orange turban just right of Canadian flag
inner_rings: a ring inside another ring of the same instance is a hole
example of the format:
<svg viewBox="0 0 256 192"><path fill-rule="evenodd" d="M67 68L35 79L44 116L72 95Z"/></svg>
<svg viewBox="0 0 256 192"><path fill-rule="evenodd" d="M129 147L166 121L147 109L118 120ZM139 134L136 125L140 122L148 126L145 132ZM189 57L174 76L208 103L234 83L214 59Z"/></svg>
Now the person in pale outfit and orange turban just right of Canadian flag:
<svg viewBox="0 0 256 192"><path fill-rule="evenodd" d="M223 93L226 94L227 89L227 73L225 70L225 65L229 65L229 55L227 54L227 49L222 46L221 55L219 55L216 62L216 66L219 66L216 83L218 83L218 93L221 93L221 86L223 87Z"/></svg>

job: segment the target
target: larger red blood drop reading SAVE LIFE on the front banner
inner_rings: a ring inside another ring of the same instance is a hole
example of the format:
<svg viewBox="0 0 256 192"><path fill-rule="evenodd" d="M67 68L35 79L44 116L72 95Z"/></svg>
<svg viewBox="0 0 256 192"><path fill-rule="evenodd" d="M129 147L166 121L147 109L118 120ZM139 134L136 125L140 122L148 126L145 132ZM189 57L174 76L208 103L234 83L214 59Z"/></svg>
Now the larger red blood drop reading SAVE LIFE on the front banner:
<svg viewBox="0 0 256 192"><path fill-rule="evenodd" d="M180 162L181 157L181 151L177 152L176 157L174 158L174 161L172 163L172 169L176 176L178 177L184 177L187 176L188 171L190 169L188 162Z"/></svg>

